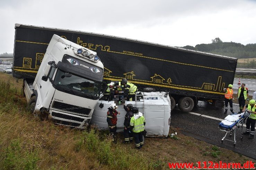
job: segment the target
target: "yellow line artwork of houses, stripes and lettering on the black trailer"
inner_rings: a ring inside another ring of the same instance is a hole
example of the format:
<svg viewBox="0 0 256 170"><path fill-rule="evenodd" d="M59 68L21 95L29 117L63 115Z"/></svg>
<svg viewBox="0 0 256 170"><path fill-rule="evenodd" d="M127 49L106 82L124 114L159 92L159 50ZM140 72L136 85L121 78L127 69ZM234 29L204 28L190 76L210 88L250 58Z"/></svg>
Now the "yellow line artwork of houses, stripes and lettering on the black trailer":
<svg viewBox="0 0 256 170"><path fill-rule="evenodd" d="M62 38L67 39L65 36L61 36ZM25 42L25 43L37 43L37 44L47 44L47 43L38 43L38 42L28 42L28 41L18 41L17 42ZM137 52L132 52L132 51L127 51L123 50L121 52L118 51L111 51L110 46L104 46L102 44L92 44L88 42L83 42L80 37L77 38L77 44L79 44L82 47L91 49L91 50L101 50L101 51L107 51L107 52L112 52L112 53L117 53L117 54L125 54L125 55L130 55L133 57L141 57L141 58L147 58L151 60L160 60L164 62L170 62L170 63L176 63L176 64L182 64L182 65L187 65L187 66L194 66L194 67L201 67L201 68L207 68L207 69L212 69L212 70L221 70L221 71L228 71L228 72L233 72L232 70L224 70L224 69L219 69L219 68L212 68L212 67L205 67L205 66L199 66L199 65L194 65L194 64L188 64L188 63L181 63L181 62L176 62L176 61L170 61L170 60L164 60L164 59L158 59L158 58L153 58L153 57L148 57L148 56L143 56L142 53L137 53ZM47 44L48 45L48 44ZM43 60L44 54L42 53L36 53L36 63L35 66L32 66L32 58L24 57L23 58L23 66L22 67L14 67L14 68L21 68L19 71L25 71L25 72L37 72L36 70L39 69L40 64ZM22 70L22 69L30 69L30 70ZM18 71L18 69L15 69ZM35 70L35 71L33 71ZM112 76L113 72L107 68L104 67L104 72L103 76L104 79L106 80L121 80L123 78L126 78L128 81L132 83L138 83L138 84L145 84L145 85L151 85L151 86L159 86L159 87L167 87L167 88L174 88L174 89L181 89L181 90L191 90L191 91L198 91L198 92L208 92L208 93L217 93L217 94L223 94L222 89L225 86L225 83L222 82L222 77L219 76L217 83L203 83L201 87L189 87L189 86L180 86L175 84L175 82L172 82L170 77L162 77L161 75L155 73L154 75L151 75L148 80L139 80L135 79L136 75L134 71L130 71L127 73L123 73L123 77L115 77ZM193 88L193 89L192 89Z"/></svg>

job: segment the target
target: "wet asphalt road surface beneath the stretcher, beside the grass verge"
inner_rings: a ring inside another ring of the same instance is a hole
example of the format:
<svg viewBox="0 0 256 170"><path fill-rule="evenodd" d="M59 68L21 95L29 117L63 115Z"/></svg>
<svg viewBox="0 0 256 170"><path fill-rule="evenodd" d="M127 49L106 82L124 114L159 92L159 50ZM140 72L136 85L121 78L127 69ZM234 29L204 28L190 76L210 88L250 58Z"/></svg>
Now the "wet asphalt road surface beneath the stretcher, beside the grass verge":
<svg viewBox="0 0 256 170"><path fill-rule="evenodd" d="M238 105L233 105L234 112L239 111ZM228 114L231 114L228 110ZM233 150L250 158L256 159L256 138L248 139L248 135L241 140L242 129L236 129L236 147L233 148L233 142L221 139L225 132L219 128L219 123L228 114L224 114L224 109L216 109L207 102L198 102L197 108L194 108L190 113L180 111L177 106L171 112L171 126L178 127L184 134L192 136L199 140L215 144L217 146ZM245 131L245 127L243 127ZM227 139L233 140L234 136L227 135Z"/></svg>

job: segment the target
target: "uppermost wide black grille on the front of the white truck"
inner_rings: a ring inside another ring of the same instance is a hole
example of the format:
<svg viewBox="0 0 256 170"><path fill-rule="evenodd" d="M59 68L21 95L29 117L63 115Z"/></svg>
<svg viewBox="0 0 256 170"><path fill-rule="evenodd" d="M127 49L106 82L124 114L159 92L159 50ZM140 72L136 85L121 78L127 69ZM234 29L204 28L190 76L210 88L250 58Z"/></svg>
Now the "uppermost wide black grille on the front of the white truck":
<svg viewBox="0 0 256 170"><path fill-rule="evenodd" d="M73 113L85 114L85 115L88 115L91 112L91 109L78 107L71 104L61 103L58 101L53 102L52 108L65 110Z"/></svg>

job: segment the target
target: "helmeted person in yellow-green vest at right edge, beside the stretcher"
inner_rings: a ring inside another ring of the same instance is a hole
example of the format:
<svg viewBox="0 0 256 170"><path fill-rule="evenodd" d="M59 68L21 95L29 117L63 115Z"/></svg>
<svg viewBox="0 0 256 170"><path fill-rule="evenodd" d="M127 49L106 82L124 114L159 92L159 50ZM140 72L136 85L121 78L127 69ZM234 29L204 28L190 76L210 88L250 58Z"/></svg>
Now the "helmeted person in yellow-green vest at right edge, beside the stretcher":
<svg viewBox="0 0 256 170"><path fill-rule="evenodd" d="M250 100L249 104L247 104L244 107L242 112L244 112L246 108L250 112L250 117L247 118L247 120L246 120L246 132L244 132L244 134L250 134L249 139L253 139L254 133L255 133L255 122L256 122L256 111L255 111L256 110L256 102L255 102L255 100ZM251 128L251 132L250 132L250 128Z"/></svg>

